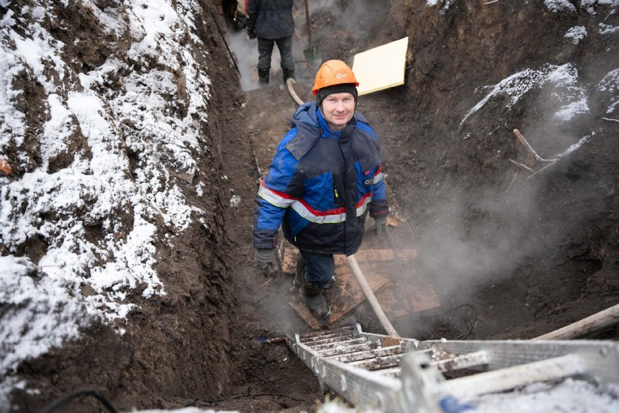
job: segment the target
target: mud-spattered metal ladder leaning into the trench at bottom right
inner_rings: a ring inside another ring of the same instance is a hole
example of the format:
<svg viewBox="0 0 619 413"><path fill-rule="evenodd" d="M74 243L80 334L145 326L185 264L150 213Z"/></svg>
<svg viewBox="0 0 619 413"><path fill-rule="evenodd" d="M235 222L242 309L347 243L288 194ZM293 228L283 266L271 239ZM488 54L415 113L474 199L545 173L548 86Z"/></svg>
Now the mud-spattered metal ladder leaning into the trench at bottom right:
<svg viewBox="0 0 619 413"><path fill-rule="evenodd" d="M417 341L362 332L360 324L286 341L323 392L382 412L457 411L449 406L464 396L567 377L619 384L613 341ZM456 370L464 377L442 374Z"/></svg>

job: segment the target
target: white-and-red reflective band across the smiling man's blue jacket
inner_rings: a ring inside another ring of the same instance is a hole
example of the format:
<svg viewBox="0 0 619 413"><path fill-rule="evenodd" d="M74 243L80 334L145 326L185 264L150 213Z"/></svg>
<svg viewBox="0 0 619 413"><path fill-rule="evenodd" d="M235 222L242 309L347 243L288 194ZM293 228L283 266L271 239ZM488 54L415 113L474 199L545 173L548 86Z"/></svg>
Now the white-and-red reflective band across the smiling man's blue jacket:
<svg viewBox="0 0 619 413"><path fill-rule="evenodd" d="M310 205L303 200L290 198L284 193L268 189L264 186L264 181L260 182L258 195L276 207L291 207L294 211L296 211L296 213L298 213L298 215L301 215L310 222L316 222L317 224L336 224L346 220L345 208L330 209L329 211L318 211L310 207ZM356 215L363 215L367 209L367 204L370 202L372 202L372 194L368 193L361 198L360 202L357 203Z"/></svg>

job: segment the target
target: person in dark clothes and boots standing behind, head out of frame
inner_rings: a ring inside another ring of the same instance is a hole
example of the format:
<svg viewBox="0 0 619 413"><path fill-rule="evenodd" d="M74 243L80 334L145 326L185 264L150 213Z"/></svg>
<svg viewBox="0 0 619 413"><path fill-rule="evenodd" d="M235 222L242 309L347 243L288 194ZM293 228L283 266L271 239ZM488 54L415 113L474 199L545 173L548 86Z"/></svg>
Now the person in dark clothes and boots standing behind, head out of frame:
<svg viewBox="0 0 619 413"><path fill-rule="evenodd" d="M288 78L294 78L292 0L248 0L246 24L249 38L258 38L259 83L269 83L274 43L277 43L281 56L284 83Z"/></svg>

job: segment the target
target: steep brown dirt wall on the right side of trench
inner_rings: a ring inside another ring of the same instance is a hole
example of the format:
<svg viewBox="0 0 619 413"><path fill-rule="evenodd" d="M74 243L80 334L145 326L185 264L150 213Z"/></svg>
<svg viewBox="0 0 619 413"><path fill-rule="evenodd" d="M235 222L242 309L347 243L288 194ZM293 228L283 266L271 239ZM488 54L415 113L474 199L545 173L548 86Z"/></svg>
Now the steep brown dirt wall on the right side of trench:
<svg viewBox="0 0 619 413"><path fill-rule="evenodd" d="M543 328L559 327L616 304L618 127L608 119L616 108L605 112L608 96L598 87L619 64L616 32L600 32L602 24L617 24L615 8L580 4L553 12L543 2L506 1L402 6L411 44L406 92L375 99L402 105L402 126L395 134L393 125L382 131L398 140L383 141L386 169L415 225L426 271L450 300L477 297L479 306L495 309L497 324L477 326L484 337L525 337L541 319L548 323ZM566 36L575 26L587 32L578 43ZM567 88L579 89L590 108L567 121L553 117L568 102L548 82L514 105L513 91L491 93L519 72L566 66L577 78ZM590 138L531 176L510 163L525 163L528 153L514 129L545 159ZM503 293L518 304L510 299L501 306Z"/></svg>

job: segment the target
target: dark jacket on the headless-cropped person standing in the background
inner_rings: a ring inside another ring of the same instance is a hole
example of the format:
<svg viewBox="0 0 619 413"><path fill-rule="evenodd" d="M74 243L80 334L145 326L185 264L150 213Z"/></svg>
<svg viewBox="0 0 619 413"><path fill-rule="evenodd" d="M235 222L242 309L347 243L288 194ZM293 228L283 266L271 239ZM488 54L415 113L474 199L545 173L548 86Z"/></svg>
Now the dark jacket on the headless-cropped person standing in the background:
<svg viewBox="0 0 619 413"><path fill-rule="evenodd" d="M246 24L263 39L292 36L292 0L249 0Z"/></svg>

